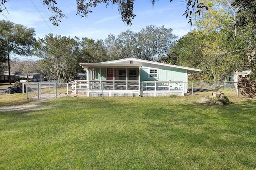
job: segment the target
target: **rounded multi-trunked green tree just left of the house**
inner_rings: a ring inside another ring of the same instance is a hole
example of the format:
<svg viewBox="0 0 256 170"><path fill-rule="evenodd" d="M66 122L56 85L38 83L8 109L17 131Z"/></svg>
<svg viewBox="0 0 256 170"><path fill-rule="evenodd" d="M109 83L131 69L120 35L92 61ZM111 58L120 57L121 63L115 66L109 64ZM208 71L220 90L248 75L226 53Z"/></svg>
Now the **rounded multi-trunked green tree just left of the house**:
<svg viewBox="0 0 256 170"><path fill-rule="evenodd" d="M60 82L60 79L71 79L76 75L75 69L78 44L75 39L65 36L53 36L52 33L38 39L34 54L41 57L42 64L49 69L51 75ZM75 63L75 64L74 64Z"/></svg>

